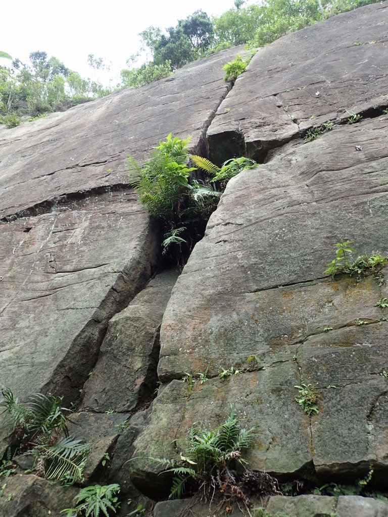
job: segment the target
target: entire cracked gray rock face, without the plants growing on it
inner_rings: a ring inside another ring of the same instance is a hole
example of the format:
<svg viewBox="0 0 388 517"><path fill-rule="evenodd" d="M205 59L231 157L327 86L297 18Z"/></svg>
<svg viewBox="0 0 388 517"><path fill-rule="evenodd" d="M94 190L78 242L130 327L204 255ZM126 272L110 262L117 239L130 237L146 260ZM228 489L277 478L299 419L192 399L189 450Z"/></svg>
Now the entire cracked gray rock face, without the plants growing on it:
<svg viewBox="0 0 388 517"><path fill-rule="evenodd" d="M323 273L345 240L355 256L388 255L387 13L370 5L281 38L231 92L221 67L242 49L0 134L0 383L22 398L82 393L87 483L166 497L171 477L149 458L184 452L195 422L214 429L232 405L256 428L250 468L306 486L374 469L388 489L388 267ZM182 275L148 283L161 236L124 157L143 160L169 132L216 162L265 163L229 182ZM318 413L298 404L301 385ZM315 495L267 510L388 515L383 501Z"/></svg>

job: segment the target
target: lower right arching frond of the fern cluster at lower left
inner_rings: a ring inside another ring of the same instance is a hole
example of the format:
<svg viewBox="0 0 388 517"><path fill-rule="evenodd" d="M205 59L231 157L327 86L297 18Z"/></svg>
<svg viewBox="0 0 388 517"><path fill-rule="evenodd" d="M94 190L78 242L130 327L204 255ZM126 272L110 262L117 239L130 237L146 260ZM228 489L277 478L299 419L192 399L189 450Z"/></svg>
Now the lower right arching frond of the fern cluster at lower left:
<svg viewBox="0 0 388 517"><path fill-rule="evenodd" d="M46 479L72 484L83 480L89 448L81 440L67 436L52 446L38 445L31 451L43 460Z"/></svg>

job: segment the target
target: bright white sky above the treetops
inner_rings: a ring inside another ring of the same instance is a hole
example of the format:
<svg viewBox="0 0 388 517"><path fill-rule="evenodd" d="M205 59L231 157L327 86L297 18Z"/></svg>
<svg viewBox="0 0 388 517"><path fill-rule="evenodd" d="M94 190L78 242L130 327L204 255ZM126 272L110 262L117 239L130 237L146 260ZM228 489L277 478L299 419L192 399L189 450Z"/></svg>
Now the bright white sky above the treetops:
<svg viewBox="0 0 388 517"><path fill-rule="evenodd" d="M248 0L245 4L256 3ZM0 50L22 62L37 50L55 56L83 77L93 74L87 55L112 62L114 75L140 48L138 33L150 25L162 29L202 9L219 16L234 7L233 0L19 0L3 2ZM0 65L9 62L0 59ZM101 78L100 78L101 79Z"/></svg>

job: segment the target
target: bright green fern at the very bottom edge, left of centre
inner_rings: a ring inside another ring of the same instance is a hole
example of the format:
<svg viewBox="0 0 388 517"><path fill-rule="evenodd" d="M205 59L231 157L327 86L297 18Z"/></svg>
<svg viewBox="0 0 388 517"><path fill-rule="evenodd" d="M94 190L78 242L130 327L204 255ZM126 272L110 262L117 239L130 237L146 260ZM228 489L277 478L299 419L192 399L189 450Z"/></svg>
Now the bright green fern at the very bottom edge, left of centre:
<svg viewBox="0 0 388 517"><path fill-rule="evenodd" d="M110 514L116 514L120 505L116 495L119 492L120 485L116 483L103 486L98 484L86 486L74 497L76 506L66 508L61 513L64 513L65 517L99 517L100 515L109 517Z"/></svg>

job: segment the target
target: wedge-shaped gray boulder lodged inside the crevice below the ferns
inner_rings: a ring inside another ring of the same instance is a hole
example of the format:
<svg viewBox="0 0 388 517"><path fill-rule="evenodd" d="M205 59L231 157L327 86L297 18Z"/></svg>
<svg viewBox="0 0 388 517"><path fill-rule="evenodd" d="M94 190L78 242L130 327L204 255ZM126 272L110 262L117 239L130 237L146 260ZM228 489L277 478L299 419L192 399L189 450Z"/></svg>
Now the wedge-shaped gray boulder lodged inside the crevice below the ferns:
<svg viewBox="0 0 388 517"><path fill-rule="evenodd" d="M152 397L157 382L159 329L178 271L157 275L113 316L85 384L83 404L99 412L130 411Z"/></svg>

